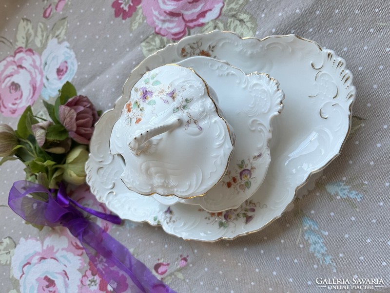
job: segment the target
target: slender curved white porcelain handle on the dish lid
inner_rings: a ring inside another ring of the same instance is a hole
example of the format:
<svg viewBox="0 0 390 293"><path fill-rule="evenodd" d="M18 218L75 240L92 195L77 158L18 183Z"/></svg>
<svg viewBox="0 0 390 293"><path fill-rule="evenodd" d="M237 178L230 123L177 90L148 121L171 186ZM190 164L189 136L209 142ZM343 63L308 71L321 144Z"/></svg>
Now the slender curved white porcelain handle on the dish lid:
<svg viewBox="0 0 390 293"><path fill-rule="evenodd" d="M152 126L151 128L134 136L133 140L129 143L129 148L135 155L139 155L145 148L148 147L146 144L148 140L164 132L175 129L180 125L181 119L175 117L171 121Z"/></svg>

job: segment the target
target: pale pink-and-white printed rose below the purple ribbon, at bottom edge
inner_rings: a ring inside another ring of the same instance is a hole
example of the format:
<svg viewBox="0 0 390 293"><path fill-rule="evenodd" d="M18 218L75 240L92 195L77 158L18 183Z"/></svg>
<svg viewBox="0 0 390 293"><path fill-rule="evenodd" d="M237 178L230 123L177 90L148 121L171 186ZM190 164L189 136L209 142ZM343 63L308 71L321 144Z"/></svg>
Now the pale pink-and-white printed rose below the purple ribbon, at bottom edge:
<svg viewBox="0 0 390 293"><path fill-rule="evenodd" d="M20 292L78 292L78 269L84 261L79 256L82 251L69 241L68 235L52 234L43 243L33 238L20 239L11 267L20 281Z"/></svg>

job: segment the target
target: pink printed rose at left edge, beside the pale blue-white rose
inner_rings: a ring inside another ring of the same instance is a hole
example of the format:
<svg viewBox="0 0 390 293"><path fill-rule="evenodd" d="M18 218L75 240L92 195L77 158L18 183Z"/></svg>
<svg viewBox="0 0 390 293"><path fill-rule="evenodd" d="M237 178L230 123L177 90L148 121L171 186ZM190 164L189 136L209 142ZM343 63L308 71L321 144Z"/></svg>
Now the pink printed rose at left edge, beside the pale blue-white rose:
<svg viewBox="0 0 390 293"><path fill-rule="evenodd" d="M32 49L19 47L0 61L0 113L18 117L38 99L43 85L42 62Z"/></svg>

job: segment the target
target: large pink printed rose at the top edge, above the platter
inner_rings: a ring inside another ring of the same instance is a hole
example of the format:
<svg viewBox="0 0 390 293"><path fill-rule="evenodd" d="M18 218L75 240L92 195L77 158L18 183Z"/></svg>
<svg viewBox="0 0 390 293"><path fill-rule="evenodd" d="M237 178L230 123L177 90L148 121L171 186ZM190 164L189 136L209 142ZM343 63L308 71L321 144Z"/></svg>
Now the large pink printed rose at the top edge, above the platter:
<svg viewBox="0 0 390 293"><path fill-rule="evenodd" d="M187 35L187 28L203 26L217 19L223 0L143 0L141 3L147 23L156 34L171 40Z"/></svg>

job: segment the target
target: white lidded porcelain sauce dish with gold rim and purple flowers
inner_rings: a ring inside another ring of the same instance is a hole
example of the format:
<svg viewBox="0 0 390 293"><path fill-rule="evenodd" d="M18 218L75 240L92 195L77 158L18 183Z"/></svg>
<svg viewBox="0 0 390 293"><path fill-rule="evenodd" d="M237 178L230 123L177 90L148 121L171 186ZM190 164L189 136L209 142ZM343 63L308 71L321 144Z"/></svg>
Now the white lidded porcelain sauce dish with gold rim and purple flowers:
<svg viewBox="0 0 390 293"><path fill-rule="evenodd" d="M167 64L142 76L110 137L111 153L123 158L127 188L187 199L221 180L234 133L213 96L191 68Z"/></svg>

